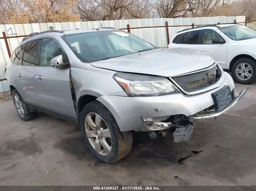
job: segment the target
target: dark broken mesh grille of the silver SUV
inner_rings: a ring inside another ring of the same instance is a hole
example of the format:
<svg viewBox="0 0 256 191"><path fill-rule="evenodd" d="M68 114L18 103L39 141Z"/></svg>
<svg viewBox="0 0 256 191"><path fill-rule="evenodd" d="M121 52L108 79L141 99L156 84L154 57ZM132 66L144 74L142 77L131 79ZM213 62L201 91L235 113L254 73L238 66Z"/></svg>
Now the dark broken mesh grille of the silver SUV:
<svg viewBox="0 0 256 191"><path fill-rule="evenodd" d="M184 91L192 92L206 88L216 83L221 77L221 71L216 66L192 74L172 77Z"/></svg>

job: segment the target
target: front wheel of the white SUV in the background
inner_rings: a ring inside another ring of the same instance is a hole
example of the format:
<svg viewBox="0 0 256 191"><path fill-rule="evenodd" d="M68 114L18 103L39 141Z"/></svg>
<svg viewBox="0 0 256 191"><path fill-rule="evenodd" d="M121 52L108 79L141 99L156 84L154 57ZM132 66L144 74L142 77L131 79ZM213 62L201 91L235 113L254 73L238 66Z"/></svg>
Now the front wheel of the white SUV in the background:
<svg viewBox="0 0 256 191"><path fill-rule="evenodd" d="M234 63L232 73L238 83L253 83L256 81L256 63L250 58L241 58Z"/></svg>

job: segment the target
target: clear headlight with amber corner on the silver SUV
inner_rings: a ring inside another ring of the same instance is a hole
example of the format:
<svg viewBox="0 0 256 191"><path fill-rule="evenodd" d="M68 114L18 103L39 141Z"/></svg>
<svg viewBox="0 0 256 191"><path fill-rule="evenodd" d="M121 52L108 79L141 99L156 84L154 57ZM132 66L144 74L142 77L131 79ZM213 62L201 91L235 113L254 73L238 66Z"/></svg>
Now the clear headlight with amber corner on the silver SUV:
<svg viewBox="0 0 256 191"><path fill-rule="evenodd" d="M113 78L131 97L158 96L180 92L165 77L117 72Z"/></svg>

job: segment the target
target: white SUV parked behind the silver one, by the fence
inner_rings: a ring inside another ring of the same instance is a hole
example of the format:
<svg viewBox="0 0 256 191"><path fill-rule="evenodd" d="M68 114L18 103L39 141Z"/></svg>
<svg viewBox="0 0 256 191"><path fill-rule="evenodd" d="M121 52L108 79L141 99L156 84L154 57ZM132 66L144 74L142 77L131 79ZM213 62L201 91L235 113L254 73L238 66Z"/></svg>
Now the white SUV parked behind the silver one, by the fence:
<svg viewBox="0 0 256 191"><path fill-rule="evenodd" d="M235 80L256 80L256 30L240 24L204 25L177 32L168 45L192 48L211 56Z"/></svg>

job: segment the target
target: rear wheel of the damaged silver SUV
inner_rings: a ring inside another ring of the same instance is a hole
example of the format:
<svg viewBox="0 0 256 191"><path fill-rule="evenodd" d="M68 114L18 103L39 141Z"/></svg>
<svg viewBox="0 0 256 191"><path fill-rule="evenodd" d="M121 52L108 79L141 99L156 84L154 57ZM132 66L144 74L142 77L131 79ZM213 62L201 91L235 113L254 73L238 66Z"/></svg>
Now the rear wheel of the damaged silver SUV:
<svg viewBox="0 0 256 191"><path fill-rule="evenodd" d="M29 121L36 117L37 111L31 112L29 110L29 107L26 105L25 101L22 99L16 89L12 91L12 98L15 109L21 120Z"/></svg>

